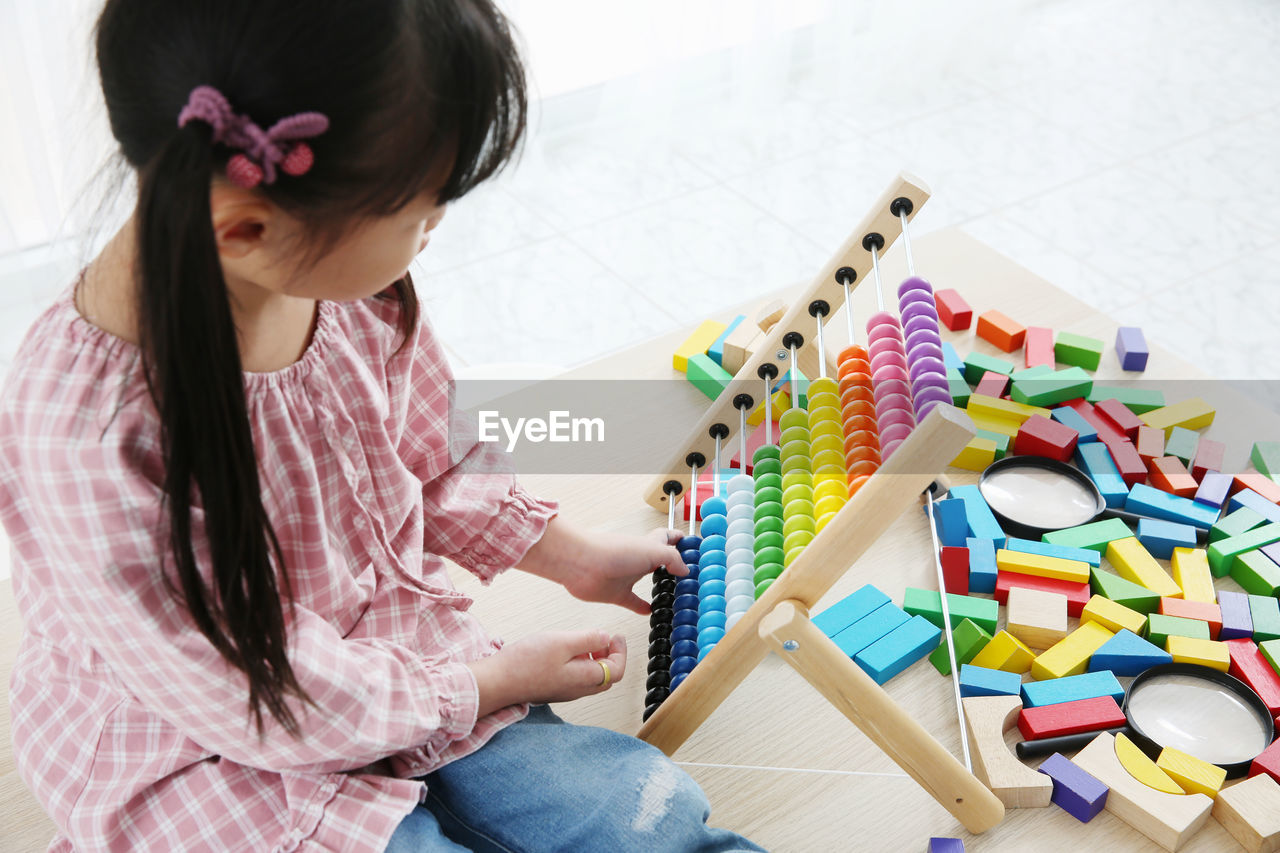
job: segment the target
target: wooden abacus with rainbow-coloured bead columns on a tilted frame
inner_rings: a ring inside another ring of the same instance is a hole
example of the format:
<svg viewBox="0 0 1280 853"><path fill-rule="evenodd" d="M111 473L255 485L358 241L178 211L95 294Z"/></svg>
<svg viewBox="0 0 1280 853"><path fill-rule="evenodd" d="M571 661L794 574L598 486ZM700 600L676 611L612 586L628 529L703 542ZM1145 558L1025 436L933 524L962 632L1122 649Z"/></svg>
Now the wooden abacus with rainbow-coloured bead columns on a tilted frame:
<svg viewBox="0 0 1280 853"><path fill-rule="evenodd" d="M673 453L646 489L646 500L675 526L681 478L690 478L690 535L678 544L690 574L676 580L654 573L650 680L639 736L673 753L773 651L969 831L983 833L1004 818L1001 802L809 621L809 608L974 435L968 415L950 405L928 283L911 275L899 288L901 321L884 310L879 286L879 254L906 233L928 197L919 181L899 175L758 342L694 428L685 452ZM911 269L909 241L908 259ZM867 348L854 343L846 311L850 346L837 356L832 380L823 325L849 304L859 269L872 270L879 310L867 323ZM810 318L815 330L806 337ZM799 405L797 370L818 377L809 386L808 411ZM792 407L782 414L774 443L771 406L780 375L790 379ZM755 382L763 382L765 434L748 474ZM742 473L721 498L721 455L735 421ZM699 538L698 482L708 459L713 492L701 506Z"/></svg>

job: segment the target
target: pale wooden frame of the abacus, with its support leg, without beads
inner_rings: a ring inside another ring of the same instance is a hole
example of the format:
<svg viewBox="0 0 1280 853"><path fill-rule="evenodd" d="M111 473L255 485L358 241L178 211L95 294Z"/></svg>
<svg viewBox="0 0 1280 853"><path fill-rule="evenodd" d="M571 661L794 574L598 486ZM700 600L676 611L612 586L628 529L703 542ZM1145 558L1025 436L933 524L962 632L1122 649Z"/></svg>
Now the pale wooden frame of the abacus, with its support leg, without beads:
<svg viewBox="0 0 1280 853"><path fill-rule="evenodd" d="M675 453L667 471L650 487L646 498L666 508L663 484L689 473L685 455L700 452L713 459L710 429L728 426L732 434L737 418L733 397L750 393L762 364L773 361L778 375L790 366L790 352L782 347L788 332L804 336L796 352L800 370L817 375L817 360L826 359L812 345L813 318L809 305L823 300L831 306L828 318L844 305L844 287L836 270L849 266L860 274L870 270L869 248L864 237L879 234L883 252L901 233L893 202L911 202L908 216L919 211L929 197L918 181L899 175L879 197L872 211L827 263L814 282L794 301L781 320L756 342L756 348L733 382L694 428L684 453ZM851 286L851 287L852 287ZM818 320L822 321L822 320ZM809 621L809 608L835 585L852 564L884 530L932 484L936 475L974 435L973 421L951 406L936 406L884 465L841 507L835 517L799 553L739 622L724 634L677 690L641 726L637 736L672 754L728 697L730 693L769 653L776 652L813 684L841 713L863 730L902 770L951 812L970 833L983 833L1000 824L1005 808L1000 799L956 761L919 722L904 711L870 676Z"/></svg>

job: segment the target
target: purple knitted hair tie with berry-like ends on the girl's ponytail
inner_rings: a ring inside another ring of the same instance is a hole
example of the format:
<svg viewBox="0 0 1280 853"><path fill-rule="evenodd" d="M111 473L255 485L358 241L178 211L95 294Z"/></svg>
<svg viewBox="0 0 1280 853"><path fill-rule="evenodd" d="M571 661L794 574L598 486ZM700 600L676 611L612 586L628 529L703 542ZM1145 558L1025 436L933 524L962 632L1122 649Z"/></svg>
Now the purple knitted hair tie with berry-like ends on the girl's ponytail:
<svg viewBox="0 0 1280 853"><path fill-rule="evenodd" d="M214 142L241 151L227 163L227 178L246 190L260 183L275 183L276 167L285 174L306 174L315 164L315 154L310 145L300 140L329 129L329 118L324 113L298 113L264 131L250 117L232 111L232 105L212 86L191 90L187 105L178 114L178 127L191 120L212 127Z"/></svg>

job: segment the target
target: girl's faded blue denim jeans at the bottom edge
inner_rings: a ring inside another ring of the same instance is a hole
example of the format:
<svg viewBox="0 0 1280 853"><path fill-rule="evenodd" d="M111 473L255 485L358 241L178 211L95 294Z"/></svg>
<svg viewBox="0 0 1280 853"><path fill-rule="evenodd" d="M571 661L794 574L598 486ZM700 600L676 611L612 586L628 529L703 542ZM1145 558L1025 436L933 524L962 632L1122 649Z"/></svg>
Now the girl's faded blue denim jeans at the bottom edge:
<svg viewBox="0 0 1280 853"><path fill-rule="evenodd" d="M426 803L403 820L387 853L762 850L707 826L707 795L662 752L570 725L544 704L424 780Z"/></svg>

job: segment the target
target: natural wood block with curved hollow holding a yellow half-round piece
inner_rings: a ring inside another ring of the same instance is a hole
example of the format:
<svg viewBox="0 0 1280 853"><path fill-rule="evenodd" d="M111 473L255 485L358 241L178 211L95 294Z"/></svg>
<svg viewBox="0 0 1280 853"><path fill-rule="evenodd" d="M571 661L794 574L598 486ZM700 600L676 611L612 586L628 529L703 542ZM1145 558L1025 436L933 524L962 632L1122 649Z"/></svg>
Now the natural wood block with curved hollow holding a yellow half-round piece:
<svg viewBox="0 0 1280 853"><path fill-rule="evenodd" d="M1101 734L1075 763L1110 788L1107 811L1166 850L1180 849L1204 821L1213 800L1203 794L1165 794L1134 779L1116 757L1116 738Z"/></svg>

